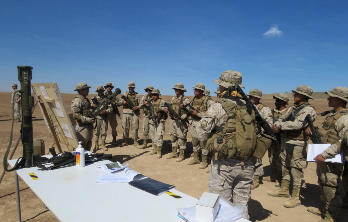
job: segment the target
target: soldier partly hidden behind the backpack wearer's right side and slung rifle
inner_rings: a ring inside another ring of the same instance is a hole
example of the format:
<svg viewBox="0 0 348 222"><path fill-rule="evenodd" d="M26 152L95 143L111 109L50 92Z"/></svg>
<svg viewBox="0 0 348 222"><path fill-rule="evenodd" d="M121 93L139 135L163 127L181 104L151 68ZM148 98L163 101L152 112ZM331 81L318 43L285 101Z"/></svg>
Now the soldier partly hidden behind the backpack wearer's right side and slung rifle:
<svg viewBox="0 0 348 222"><path fill-rule="evenodd" d="M268 106L265 106L260 102L260 99L263 99L262 91L259 89L252 89L250 90L249 94L246 95L249 96L249 99L253 102L254 106L258 108L260 116L268 123L270 127L272 127L272 111ZM263 131L264 130L262 129L261 125L258 124L258 133L263 133ZM251 187L252 190L260 186L260 177L263 176L262 159L256 158L255 161L255 174L253 180L254 185Z"/></svg>

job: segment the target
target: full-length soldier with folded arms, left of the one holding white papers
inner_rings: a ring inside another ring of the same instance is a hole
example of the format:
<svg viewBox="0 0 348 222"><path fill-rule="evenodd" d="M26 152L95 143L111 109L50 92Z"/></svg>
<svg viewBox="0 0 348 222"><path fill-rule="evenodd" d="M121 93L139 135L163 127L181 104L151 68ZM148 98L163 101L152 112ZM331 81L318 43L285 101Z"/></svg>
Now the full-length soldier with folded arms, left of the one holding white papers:
<svg viewBox="0 0 348 222"><path fill-rule="evenodd" d="M307 85L299 85L294 93L295 105L279 117L272 126L275 133L280 133L281 146L284 152L280 152L282 160L282 184L278 190L268 191L269 196L290 197L290 179L293 179L293 191L291 198L284 203L284 207L293 208L301 205L299 199L303 178L303 169L307 167L308 136L305 130L308 124L304 121L307 114L311 115L312 121L317 114L315 108L308 103L308 99L314 99L311 95L312 88Z"/></svg>

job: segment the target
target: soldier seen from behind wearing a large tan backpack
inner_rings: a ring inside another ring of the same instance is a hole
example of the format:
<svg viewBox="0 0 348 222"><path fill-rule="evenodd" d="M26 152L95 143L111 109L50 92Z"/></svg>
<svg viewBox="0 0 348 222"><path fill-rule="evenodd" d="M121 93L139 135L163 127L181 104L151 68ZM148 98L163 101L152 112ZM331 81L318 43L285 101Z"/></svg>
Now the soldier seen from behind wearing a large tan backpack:
<svg viewBox="0 0 348 222"><path fill-rule="evenodd" d="M232 70L222 72L220 79L216 79L214 82L220 85L220 92L222 93L229 86L233 86L236 83L240 87L244 87L241 85L242 74ZM225 115L226 110L219 100L209 107L204 113L203 118L196 125L195 131L199 141L206 141L213 132L221 132L227 123L228 115ZM236 91L232 92L225 101L237 104L238 106L245 105L245 101L242 100ZM219 119L220 121L217 122ZM215 124L216 126L214 127ZM246 212L244 213L247 215L247 204L251 194L254 167L252 156L248 158L234 156L227 159L217 158L217 160L212 158L208 181L209 191L219 194L236 205L246 206Z"/></svg>

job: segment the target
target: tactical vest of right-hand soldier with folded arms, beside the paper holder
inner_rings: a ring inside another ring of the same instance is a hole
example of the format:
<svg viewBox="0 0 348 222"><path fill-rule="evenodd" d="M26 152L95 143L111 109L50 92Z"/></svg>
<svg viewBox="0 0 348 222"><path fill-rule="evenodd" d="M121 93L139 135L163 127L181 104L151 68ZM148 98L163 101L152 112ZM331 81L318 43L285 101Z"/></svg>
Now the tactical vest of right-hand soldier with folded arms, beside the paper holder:
<svg viewBox="0 0 348 222"><path fill-rule="evenodd" d="M304 106L313 107L308 102L302 104L301 106L296 107L295 109L291 107L286 118L289 118L291 115L293 115L292 118L295 119L301 113L301 112L296 112L296 110L302 109L301 107L304 107ZM290 140L306 141L308 140L308 137L305 131L306 131L306 127L299 130L284 130L283 132L280 133L280 136Z"/></svg>

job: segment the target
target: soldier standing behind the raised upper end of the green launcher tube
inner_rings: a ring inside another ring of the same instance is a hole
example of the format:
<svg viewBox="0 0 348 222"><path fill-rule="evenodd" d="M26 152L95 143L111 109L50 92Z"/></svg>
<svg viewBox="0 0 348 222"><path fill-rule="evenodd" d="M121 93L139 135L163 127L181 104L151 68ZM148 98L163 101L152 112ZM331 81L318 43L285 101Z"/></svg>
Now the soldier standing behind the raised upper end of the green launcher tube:
<svg viewBox="0 0 348 222"><path fill-rule="evenodd" d="M107 82L104 86L104 88L106 89L106 97L110 96L112 94L112 89L114 88L114 86L112 85L111 82ZM110 124L110 128L111 128L111 135L112 135L112 142L111 144L114 146L118 146L117 144L117 116L116 114L120 113L118 111L117 106L121 106L121 101L119 98L115 97L112 99L111 101L111 106L112 106L112 112L110 114L108 114L108 120L109 120L109 124Z"/></svg>

